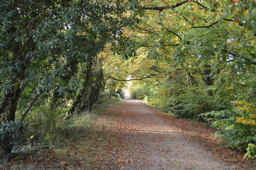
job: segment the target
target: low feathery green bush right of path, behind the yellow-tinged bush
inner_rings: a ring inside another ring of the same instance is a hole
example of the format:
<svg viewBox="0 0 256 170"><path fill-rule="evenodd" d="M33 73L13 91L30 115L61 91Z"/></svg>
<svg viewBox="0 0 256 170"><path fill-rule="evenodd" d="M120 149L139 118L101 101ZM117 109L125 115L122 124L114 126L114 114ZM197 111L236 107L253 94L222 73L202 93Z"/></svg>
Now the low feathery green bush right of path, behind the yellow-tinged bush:
<svg viewBox="0 0 256 170"><path fill-rule="evenodd" d="M218 94L209 95L209 91L214 91L214 87L187 87L179 93L172 95L168 100L159 99L158 105L162 105L162 110L174 115L177 119L204 121L199 115L210 111L221 111L230 107L225 99L221 99ZM161 108L161 106L158 106Z"/></svg>

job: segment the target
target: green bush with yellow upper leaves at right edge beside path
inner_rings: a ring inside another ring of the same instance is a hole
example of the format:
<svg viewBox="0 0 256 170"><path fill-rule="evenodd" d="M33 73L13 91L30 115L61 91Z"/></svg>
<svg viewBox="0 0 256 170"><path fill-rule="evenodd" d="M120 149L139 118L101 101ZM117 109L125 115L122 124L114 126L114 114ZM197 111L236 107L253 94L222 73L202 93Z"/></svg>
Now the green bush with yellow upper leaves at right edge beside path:
<svg viewBox="0 0 256 170"><path fill-rule="evenodd" d="M245 152L248 144L256 143L256 106L246 101L232 103L233 109L204 113L201 116L219 129L216 136L226 146Z"/></svg>

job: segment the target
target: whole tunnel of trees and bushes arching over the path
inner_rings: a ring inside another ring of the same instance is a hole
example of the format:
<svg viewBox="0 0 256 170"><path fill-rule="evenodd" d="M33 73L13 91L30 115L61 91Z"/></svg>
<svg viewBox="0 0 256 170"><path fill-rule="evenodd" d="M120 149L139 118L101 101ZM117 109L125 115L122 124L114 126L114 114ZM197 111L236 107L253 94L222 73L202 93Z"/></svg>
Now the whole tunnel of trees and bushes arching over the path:
<svg viewBox="0 0 256 170"><path fill-rule="evenodd" d="M255 151L255 9L256 0L2 1L3 152L31 134L31 122L54 128L123 87ZM37 119L47 114L52 122Z"/></svg>

